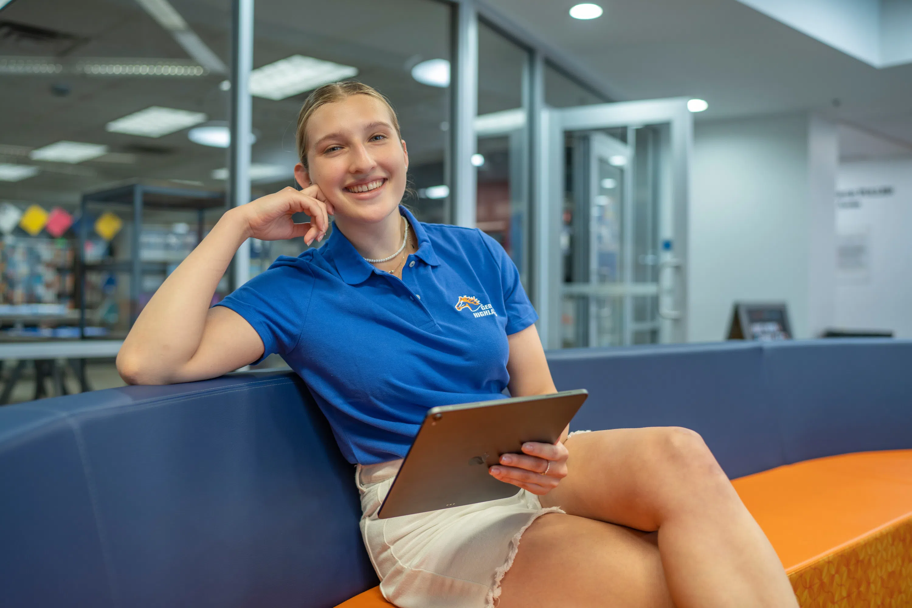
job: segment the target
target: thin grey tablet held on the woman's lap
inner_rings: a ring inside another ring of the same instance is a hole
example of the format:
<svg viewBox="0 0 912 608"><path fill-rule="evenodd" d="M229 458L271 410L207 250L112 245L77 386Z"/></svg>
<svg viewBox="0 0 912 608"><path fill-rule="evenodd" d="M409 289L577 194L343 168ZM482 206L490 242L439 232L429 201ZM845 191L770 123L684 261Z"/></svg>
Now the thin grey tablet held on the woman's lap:
<svg viewBox="0 0 912 608"><path fill-rule="evenodd" d="M431 407L393 480L379 519L513 496L488 467L526 441L554 443L586 401L585 389Z"/></svg>

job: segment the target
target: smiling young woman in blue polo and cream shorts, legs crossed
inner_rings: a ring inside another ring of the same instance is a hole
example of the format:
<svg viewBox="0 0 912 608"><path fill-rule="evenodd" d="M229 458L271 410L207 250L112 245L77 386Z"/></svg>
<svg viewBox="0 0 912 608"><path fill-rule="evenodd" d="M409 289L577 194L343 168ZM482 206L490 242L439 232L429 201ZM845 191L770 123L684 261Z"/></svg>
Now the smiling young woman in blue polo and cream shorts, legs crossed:
<svg viewBox="0 0 912 608"><path fill-rule="evenodd" d="M318 88L297 147L304 190L223 215L127 336L127 382L190 382L283 356L357 464L368 554L403 608L797 605L769 541L684 428L565 431L490 469L517 486L513 498L378 520L429 407L554 383L503 248L399 205L409 154L385 98L357 82ZM298 211L311 222L295 224ZM309 245L330 215L323 246L279 258L210 308L245 239ZM476 316L482 306L492 313Z"/></svg>

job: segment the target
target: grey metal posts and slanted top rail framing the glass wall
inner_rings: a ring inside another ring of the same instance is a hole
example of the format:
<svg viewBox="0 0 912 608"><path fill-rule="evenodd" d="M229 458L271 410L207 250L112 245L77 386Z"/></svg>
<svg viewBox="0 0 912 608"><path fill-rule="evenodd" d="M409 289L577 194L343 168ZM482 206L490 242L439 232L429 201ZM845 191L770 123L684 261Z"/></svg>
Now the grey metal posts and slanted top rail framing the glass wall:
<svg viewBox="0 0 912 608"><path fill-rule="evenodd" d="M450 221L474 227L476 222L476 169L472 154L477 148L474 119L478 108L478 20L499 30L503 36L529 51L523 98L528 99L529 120L529 219L528 256L531 264L529 294L542 319L549 318L548 281L555 272L548 250L559 245L548 229L547 163L542 150L547 149L548 116L544 106L545 63L598 95L617 100L617 94L596 72L563 50L515 23L500 9L485 0L441 0L453 7L451 69L451 139L450 139ZM252 102L249 79L254 56L254 0L232 0L231 56L231 147L229 149L229 206L238 207L250 201L250 129ZM549 242L555 241L555 242ZM546 246L540 246L545 244ZM246 282L250 273L249 242L238 249L233 261L233 287ZM539 324L543 341L547 334ZM545 342L547 344L547 342Z"/></svg>

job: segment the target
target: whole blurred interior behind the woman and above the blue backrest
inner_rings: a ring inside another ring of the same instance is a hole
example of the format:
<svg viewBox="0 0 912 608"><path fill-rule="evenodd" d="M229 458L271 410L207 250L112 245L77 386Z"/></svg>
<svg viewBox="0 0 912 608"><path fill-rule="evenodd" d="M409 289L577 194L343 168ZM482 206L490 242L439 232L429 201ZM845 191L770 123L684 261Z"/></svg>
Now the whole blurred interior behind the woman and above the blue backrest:
<svg viewBox="0 0 912 608"><path fill-rule="evenodd" d="M121 385L151 294L294 183L298 109L344 79L547 348L912 337L907 0L248 4L0 0L0 404ZM246 243L213 303L305 247Z"/></svg>

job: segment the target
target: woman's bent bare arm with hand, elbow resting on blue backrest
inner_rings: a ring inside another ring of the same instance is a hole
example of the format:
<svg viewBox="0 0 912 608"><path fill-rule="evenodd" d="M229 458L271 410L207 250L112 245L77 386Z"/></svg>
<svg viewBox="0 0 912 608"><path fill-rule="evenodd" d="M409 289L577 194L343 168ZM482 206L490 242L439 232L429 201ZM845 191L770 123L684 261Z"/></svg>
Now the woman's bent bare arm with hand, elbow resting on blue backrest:
<svg viewBox="0 0 912 608"><path fill-rule="evenodd" d="M316 186L286 188L227 211L205 239L161 284L140 313L117 357L130 384L171 384L221 376L263 355L263 341L244 318L217 306L212 295L234 252L248 237L266 241L303 236L308 244L328 230ZM295 224L305 211L315 222Z"/></svg>

